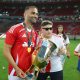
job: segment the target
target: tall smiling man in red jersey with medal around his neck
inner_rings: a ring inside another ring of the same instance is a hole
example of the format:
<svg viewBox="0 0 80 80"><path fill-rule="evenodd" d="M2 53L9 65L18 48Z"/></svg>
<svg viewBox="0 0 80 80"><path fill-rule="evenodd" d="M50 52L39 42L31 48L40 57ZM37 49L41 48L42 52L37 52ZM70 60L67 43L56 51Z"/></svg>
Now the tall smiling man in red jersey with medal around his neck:
<svg viewBox="0 0 80 80"><path fill-rule="evenodd" d="M28 6L24 11L24 22L12 26L6 33L4 56L10 63L9 80L24 80L32 64L31 55L37 38L33 24L37 19L37 7Z"/></svg>

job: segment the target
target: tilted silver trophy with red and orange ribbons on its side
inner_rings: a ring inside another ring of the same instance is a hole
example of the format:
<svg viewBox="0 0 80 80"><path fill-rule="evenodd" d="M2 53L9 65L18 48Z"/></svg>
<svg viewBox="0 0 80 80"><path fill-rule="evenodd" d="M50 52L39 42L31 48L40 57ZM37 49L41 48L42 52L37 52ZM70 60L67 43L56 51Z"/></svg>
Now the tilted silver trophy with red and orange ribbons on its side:
<svg viewBox="0 0 80 80"><path fill-rule="evenodd" d="M56 47L57 46L54 42L52 42L51 40L44 39L42 41L41 47L37 46L37 48L33 52L33 55L34 53L36 53L36 55L35 55L33 64L31 65L29 70L32 70L34 68L34 70L37 69L37 72L39 72L40 69L45 68L48 64L47 59L49 59L49 57L51 56L51 53L56 49Z"/></svg>

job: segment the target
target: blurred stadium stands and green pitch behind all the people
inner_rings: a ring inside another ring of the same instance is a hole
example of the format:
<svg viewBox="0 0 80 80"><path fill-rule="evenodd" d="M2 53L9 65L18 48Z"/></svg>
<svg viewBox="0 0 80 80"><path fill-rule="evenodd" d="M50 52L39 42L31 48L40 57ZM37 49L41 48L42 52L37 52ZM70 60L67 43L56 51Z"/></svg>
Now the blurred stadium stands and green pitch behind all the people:
<svg viewBox="0 0 80 80"><path fill-rule="evenodd" d="M65 63L64 80L80 80L80 73L76 69L78 58L73 55L74 48L80 42L80 0L0 0L0 80L7 80L8 65L2 55L2 38L12 25L23 21L26 5L35 5L39 9L36 30L39 30L39 24L44 19L53 21L53 32L56 32L58 24L64 26L71 39L71 58Z"/></svg>

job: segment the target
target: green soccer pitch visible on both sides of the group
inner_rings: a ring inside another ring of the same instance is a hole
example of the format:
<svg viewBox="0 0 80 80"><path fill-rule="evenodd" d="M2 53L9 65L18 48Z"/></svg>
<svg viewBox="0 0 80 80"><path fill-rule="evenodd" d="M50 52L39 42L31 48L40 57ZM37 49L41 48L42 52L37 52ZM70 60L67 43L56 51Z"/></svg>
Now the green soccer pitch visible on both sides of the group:
<svg viewBox="0 0 80 80"><path fill-rule="evenodd" d="M71 58L70 59L66 58L66 62L64 65L64 80L80 80L80 72L77 71L78 58L73 54L74 49L80 42L80 40L70 40L70 42L71 42L70 44ZM3 44L4 39L0 39L0 80L8 80L7 79L8 63L6 59L3 57Z"/></svg>

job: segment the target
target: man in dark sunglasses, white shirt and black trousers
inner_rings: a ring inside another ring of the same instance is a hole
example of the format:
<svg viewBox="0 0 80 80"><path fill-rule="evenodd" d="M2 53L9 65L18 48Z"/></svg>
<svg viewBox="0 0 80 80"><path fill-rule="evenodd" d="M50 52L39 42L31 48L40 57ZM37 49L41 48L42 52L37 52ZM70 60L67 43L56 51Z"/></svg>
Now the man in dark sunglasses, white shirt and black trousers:
<svg viewBox="0 0 80 80"><path fill-rule="evenodd" d="M46 80L48 76L50 76L51 80L63 80L63 68L60 55L65 54L66 49L62 39L56 34L53 34L52 29L53 23L51 21L44 20L41 23L41 35L43 39L50 40L57 48L51 53L49 64L39 72L37 80Z"/></svg>

